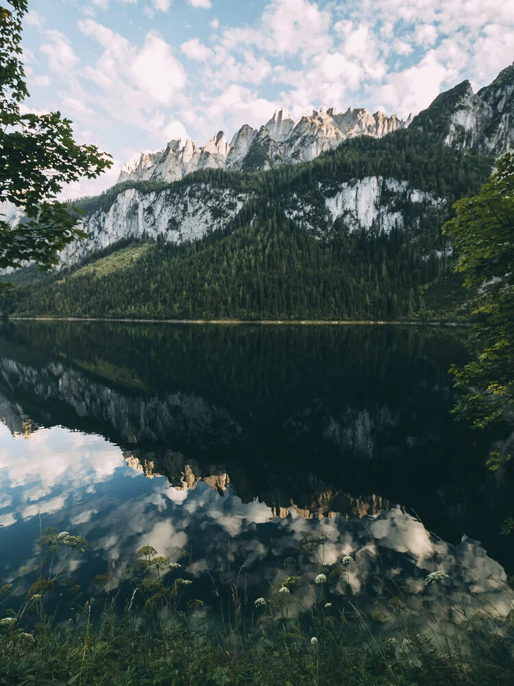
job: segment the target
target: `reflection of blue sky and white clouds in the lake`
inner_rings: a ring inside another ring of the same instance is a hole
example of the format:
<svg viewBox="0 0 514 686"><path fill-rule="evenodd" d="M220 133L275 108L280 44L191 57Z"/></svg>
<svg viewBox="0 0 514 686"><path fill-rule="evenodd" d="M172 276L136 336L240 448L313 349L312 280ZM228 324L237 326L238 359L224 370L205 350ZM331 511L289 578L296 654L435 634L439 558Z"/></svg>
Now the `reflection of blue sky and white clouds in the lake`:
<svg viewBox="0 0 514 686"><path fill-rule="evenodd" d="M223 495L219 481L209 483L208 477L193 480L193 488L185 482L177 488L164 477L145 478L125 460L121 449L100 436L53 427L24 440L0 426L1 549L8 549L13 536L18 539L0 575L12 578L23 565L34 565L40 515L43 527L73 530L90 541L90 552L73 569L81 580L104 572L108 560L131 560L140 546L153 545L169 557L188 551L184 571L199 592L210 592L207 572L228 587L243 567L252 593L265 595L269 584L290 573L284 559L298 554L303 537L322 531L324 564L341 565L351 554L351 590L345 593L370 607L394 588L420 593L427 574L440 570L450 576L451 587L486 592L509 610L505 572L479 543L466 536L458 545L445 543L399 506L362 519L309 519L295 508L281 518L258 499L244 502L230 483ZM319 563L305 553L297 560L297 573L312 582ZM120 583L118 568L114 586Z"/></svg>

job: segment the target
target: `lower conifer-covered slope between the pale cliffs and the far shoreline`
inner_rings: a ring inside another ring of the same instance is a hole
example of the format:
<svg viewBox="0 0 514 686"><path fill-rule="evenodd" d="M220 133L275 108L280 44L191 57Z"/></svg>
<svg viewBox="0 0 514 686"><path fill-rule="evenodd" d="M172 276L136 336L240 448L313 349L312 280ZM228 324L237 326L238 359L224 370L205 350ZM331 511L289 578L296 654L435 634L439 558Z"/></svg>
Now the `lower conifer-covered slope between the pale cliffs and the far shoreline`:
<svg viewBox="0 0 514 686"><path fill-rule="evenodd" d="M330 238L317 239L282 211L256 202L231 229L182 245L134 243L129 252L127 241L118 252L111 246L87 268L19 287L3 311L112 319L430 320L452 318L456 305L466 303L445 250L427 252L400 229L353 233L341 222ZM438 290L439 282L450 289Z"/></svg>

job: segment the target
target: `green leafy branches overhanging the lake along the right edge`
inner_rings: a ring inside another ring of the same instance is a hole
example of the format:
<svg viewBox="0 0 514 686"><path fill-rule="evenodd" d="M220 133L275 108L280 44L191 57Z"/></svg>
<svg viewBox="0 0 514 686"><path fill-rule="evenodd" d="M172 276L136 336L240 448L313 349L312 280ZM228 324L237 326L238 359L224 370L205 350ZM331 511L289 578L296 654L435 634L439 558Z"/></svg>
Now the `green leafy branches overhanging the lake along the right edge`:
<svg viewBox="0 0 514 686"><path fill-rule="evenodd" d="M487 294L475 311L469 345L478 359L452 368L457 386L470 388L454 412L482 429L509 419L514 405L514 155L504 155L480 193L454 205L443 226L458 248L465 285ZM491 469L510 456L492 453Z"/></svg>

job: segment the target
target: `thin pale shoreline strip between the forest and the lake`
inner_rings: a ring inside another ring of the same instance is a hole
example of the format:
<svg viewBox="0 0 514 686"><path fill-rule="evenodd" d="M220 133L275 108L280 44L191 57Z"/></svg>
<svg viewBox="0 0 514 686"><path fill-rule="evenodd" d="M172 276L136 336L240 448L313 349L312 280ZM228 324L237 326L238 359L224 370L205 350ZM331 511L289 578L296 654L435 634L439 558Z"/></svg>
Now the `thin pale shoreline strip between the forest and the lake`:
<svg viewBox="0 0 514 686"><path fill-rule="evenodd" d="M409 327L471 327L469 322L440 322L437 320L429 322L421 321L387 321L387 320L286 320L286 319L107 319L100 317L8 317L5 321L21 322L117 322L121 324L260 324L267 326L289 324L292 326L409 326Z"/></svg>

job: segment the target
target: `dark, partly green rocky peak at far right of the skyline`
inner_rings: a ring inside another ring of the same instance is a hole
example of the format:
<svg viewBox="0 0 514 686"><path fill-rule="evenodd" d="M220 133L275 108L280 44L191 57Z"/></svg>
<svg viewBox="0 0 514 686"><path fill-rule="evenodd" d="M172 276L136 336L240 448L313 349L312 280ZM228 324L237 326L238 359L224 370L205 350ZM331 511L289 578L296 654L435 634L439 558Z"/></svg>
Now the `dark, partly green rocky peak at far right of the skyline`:
<svg viewBox="0 0 514 686"><path fill-rule="evenodd" d="M478 93L469 81L441 93L413 121L446 145L500 155L514 147L514 64Z"/></svg>

